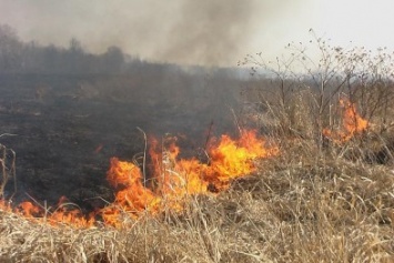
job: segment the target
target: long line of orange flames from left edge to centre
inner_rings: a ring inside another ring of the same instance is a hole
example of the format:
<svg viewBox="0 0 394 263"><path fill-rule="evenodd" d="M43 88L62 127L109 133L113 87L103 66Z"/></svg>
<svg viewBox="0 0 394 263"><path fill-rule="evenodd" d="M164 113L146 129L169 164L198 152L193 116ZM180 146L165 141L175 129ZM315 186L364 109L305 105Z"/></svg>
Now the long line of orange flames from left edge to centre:
<svg viewBox="0 0 394 263"><path fill-rule="evenodd" d="M138 219L143 213L156 215L166 210L180 212L188 198L226 190L231 181L254 171L255 159L279 154L279 149L266 148L264 140L259 139L255 131L244 131L238 141L222 135L218 141L211 142L206 149L209 159L205 162L196 158L180 159L176 139L169 141L170 143L159 145L158 140L151 140L150 180L153 183L149 185L145 168L112 158L107 180L115 190L114 201L99 211L84 215L80 209L70 209L65 198L61 198L53 212L31 202L23 202L13 211L52 225L68 223L77 227L90 227L95 224L95 218L100 216L105 225L121 227L124 216ZM6 202L0 202L0 209L11 210Z"/></svg>

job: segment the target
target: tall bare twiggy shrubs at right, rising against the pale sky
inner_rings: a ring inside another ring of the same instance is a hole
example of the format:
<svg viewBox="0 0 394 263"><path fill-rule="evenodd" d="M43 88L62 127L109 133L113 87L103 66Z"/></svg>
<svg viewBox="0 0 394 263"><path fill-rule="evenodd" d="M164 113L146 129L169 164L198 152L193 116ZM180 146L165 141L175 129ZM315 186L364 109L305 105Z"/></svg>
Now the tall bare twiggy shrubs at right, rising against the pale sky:
<svg viewBox="0 0 394 263"><path fill-rule="evenodd" d="M385 49L372 52L334 47L313 30L311 33L310 43L290 43L285 47L287 53L275 61L265 61L257 53L240 62L251 65L252 74L259 77L261 105L256 111L276 120L277 130L283 133L312 136L323 145L323 129L341 124L339 101L345 95L357 105L362 118L372 123L374 132L382 134L391 129L392 55ZM254 83L252 92L256 93L256 89Z"/></svg>

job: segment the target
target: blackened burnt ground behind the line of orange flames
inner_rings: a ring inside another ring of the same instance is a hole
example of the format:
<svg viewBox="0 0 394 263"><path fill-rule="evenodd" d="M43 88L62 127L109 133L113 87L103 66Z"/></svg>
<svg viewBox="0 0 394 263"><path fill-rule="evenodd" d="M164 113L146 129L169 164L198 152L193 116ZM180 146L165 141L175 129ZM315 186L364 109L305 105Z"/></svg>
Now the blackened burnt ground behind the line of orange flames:
<svg viewBox="0 0 394 263"><path fill-rule="evenodd" d="M236 130L230 108L240 82L171 75L0 75L0 143L17 153L16 203L54 205L65 195L84 209L113 191L109 160L143 151L143 135L179 135L184 154L214 134ZM13 192L13 181L6 198Z"/></svg>

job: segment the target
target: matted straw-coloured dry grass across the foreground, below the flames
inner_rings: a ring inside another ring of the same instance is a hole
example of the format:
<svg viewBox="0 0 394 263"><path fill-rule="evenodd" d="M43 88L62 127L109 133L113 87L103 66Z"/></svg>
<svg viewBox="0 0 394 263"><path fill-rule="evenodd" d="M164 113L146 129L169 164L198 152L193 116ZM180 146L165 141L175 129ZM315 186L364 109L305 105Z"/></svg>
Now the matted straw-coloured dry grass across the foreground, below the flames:
<svg viewBox="0 0 394 263"><path fill-rule="evenodd" d="M306 140L182 214L121 230L52 227L0 213L1 262L394 262L388 165L317 154ZM341 152L340 150L337 150Z"/></svg>

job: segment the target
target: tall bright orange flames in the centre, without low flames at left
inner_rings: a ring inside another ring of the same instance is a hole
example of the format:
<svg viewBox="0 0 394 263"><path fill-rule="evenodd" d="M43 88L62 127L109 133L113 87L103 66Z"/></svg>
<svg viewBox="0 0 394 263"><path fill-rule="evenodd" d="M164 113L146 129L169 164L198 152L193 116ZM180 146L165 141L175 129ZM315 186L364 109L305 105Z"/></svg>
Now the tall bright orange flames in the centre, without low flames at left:
<svg viewBox="0 0 394 263"><path fill-rule="evenodd" d="M275 146L265 148L255 131L243 132L238 141L222 135L219 142L209 146L208 163L195 158L179 160L180 149L174 143L175 139L171 140L168 146L159 146L155 139L151 140L154 190L142 184L143 174L135 164L117 158L111 160L107 178L112 186L121 186L122 190L118 191L115 201L102 210L107 224L120 226L124 214L135 218L143 212L182 211L189 196L210 194L212 189L225 190L232 180L254 171L254 159L279 153Z"/></svg>

